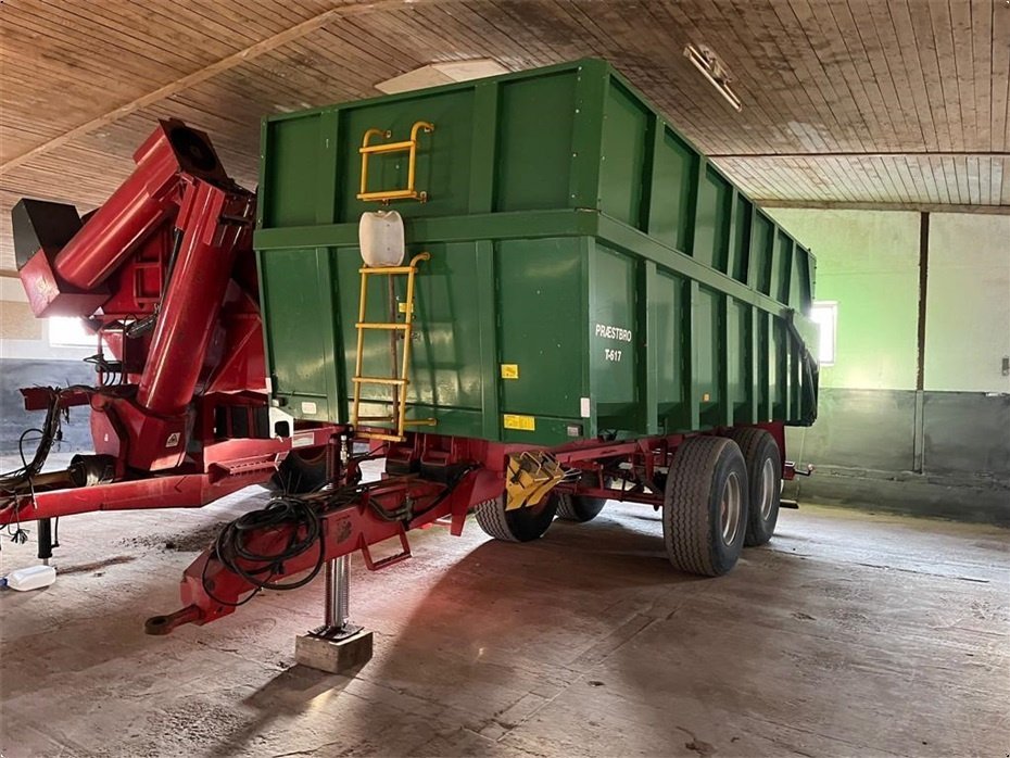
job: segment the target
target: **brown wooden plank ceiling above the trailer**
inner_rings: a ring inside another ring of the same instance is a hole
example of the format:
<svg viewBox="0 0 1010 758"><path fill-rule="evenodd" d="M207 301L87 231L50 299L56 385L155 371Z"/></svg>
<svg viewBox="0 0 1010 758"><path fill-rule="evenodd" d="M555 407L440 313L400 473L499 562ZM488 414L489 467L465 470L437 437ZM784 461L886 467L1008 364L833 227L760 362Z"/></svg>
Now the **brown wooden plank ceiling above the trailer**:
<svg viewBox="0 0 1010 758"><path fill-rule="evenodd" d="M692 68L711 47L737 113ZM102 202L159 117L256 184L264 114L420 65L609 59L766 204L1010 213L1010 0L3 0L0 270L23 195Z"/></svg>

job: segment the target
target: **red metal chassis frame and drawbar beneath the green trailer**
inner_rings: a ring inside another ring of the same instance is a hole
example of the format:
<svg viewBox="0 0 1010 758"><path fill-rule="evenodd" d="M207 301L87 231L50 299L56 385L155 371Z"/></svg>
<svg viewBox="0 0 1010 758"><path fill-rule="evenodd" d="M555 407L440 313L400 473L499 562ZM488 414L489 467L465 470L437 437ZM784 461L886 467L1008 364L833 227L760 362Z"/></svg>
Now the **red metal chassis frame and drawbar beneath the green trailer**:
<svg viewBox="0 0 1010 758"><path fill-rule="evenodd" d="M784 444L781 424L761 425ZM720 430L725 431L725 430ZM340 430L339 434L351 430ZM338 434L338 435L339 435ZM334 438L336 439L336 438ZM687 435L642 438L621 442L585 440L552 450L558 463L566 467L583 468L595 472L598 487L586 487L584 481L557 485L557 493L578 493L608 500L643 503L660 507L661 488L654 485L646 492L642 482L652 483L658 469L669 467L673 455ZM417 433L405 443L392 445L387 452L388 468L425 471L428 478L408 472L387 475L381 481L368 485L349 505L323 513L321 553L315 549L285 561L273 581L308 571L319 561L330 560L357 551L371 570L386 568L411 556L407 532L427 527L449 517L450 531L463 532L467 514L479 503L502 495L505 488L505 467L508 454L530 450L525 445L502 444L434 434ZM784 450L781 449L781 450ZM331 456L332 457L332 456ZM338 484L356 480L357 470L351 466L338 479ZM627 466L623 468L621 466ZM439 471L446 476L440 477ZM453 471L463 472L454 487L440 482L451 479ZM783 466L783 476L788 467ZM620 476L639 487L631 490L604 485L607 476ZM644 477L644 480L643 480ZM312 496L310 496L312 497ZM323 497L317 495L316 497ZM324 502L323 500L320 502ZM417 516L403 513L409 506ZM393 518L402 515L403 518ZM288 542L290 529L270 529L254 535L248 542L251 551L272 553ZM374 560L369 547L387 540L399 539L401 549L395 555ZM263 568L264 564L244 560L244 570ZM255 592L255 585L232 572L215 555L213 548L204 553L186 569L180 595L184 607L167 616L153 617L148 631L167 634L186 623L204 624L235 611L238 605Z"/></svg>

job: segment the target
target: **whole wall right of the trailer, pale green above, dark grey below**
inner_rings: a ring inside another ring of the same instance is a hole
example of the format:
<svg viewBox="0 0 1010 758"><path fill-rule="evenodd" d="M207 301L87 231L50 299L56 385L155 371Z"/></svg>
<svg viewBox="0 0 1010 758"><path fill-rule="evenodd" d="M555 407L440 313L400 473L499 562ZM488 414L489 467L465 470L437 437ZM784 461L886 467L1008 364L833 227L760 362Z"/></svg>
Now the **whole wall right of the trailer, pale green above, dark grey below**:
<svg viewBox="0 0 1010 758"><path fill-rule="evenodd" d="M1010 216L930 214L923 384L911 212L772 210L838 303L819 418L788 457L808 497L1010 526Z"/></svg>

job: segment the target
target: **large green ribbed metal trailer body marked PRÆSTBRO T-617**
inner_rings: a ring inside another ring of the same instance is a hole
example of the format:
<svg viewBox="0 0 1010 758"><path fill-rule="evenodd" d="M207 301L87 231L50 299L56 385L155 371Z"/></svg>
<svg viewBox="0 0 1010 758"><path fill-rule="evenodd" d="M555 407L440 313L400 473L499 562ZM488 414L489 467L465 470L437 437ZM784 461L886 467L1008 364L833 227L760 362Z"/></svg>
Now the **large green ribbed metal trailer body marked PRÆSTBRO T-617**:
<svg viewBox="0 0 1010 758"><path fill-rule="evenodd" d="M406 139L416 186L393 201L417 275L407 418L438 434L573 439L810 424L810 252L607 63L270 116L254 238L275 404L348 422L357 344L357 199L368 129ZM373 155L368 191L407 184ZM384 277L370 320L388 320ZM401 283L395 296L404 296ZM387 336L364 374L392 376ZM816 352L816 351L813 351ZM390 388L363 414L389 413Z"/></svg>

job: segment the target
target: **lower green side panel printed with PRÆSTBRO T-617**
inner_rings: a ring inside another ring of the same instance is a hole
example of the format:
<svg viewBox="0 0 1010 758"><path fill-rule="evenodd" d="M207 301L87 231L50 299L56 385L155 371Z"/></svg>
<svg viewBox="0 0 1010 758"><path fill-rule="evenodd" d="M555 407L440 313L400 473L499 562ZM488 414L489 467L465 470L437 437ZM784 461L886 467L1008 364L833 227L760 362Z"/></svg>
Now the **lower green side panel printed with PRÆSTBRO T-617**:
<svg viewBox="0 0 1010 758"><path fill-rule="evenodd" d="M590 252L589 368L601 428L627 429L635 410L635 362L645 325L635 320L635 261L596 243Z"/></svg>

